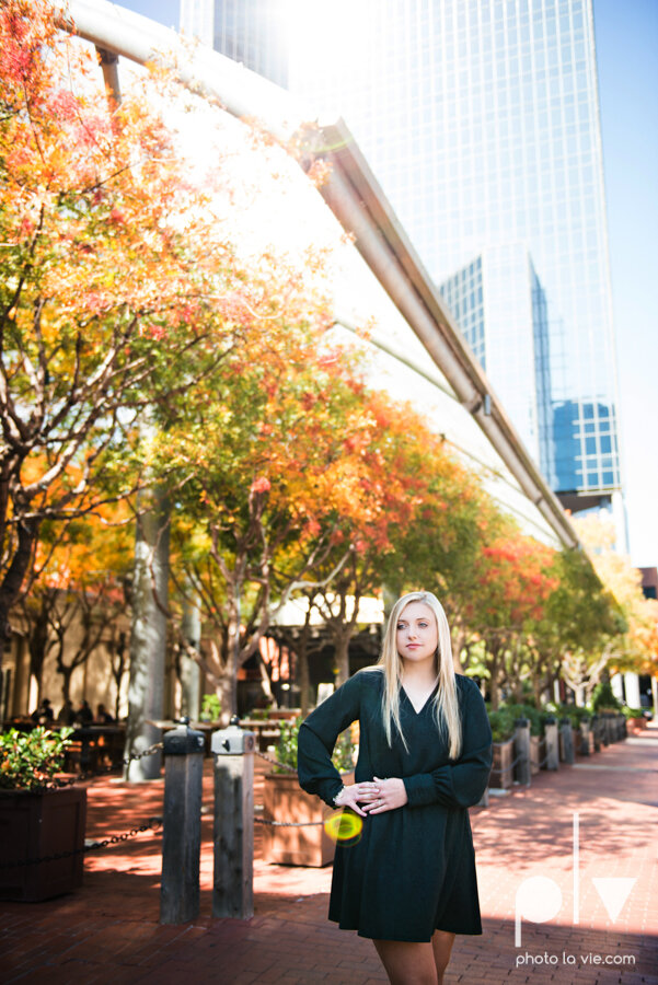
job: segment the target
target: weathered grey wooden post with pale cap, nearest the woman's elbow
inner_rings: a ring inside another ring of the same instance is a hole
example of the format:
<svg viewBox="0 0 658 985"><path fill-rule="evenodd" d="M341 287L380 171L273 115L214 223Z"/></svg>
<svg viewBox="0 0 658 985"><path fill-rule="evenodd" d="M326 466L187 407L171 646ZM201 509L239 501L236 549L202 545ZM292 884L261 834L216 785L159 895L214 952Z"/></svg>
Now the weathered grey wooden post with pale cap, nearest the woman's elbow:
<svg viewBox="0 0 658 985"><path fill-rule="evenodd" d="M233 716L212 733L215 756L215 872L212 916L254 915L254 746Z"/></svg>

